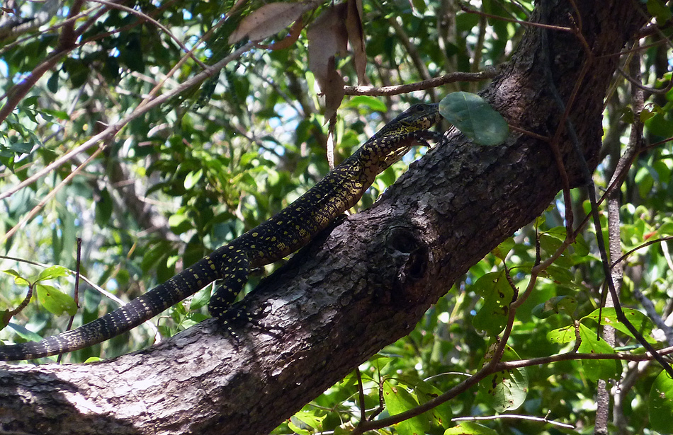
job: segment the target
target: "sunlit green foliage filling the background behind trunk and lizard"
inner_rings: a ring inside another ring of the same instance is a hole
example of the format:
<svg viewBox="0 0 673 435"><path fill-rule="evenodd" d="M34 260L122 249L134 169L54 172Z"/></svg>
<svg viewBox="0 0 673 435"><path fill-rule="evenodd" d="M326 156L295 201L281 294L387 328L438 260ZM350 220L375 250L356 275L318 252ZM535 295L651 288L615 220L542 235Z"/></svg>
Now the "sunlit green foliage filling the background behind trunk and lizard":
<svg viewBox="0 0 673 435"><path fill-rule="evenodd" d="M227 39L240 18L261 6L254 1L242 2L237 4L236 13L222 21L234 2L121 4L152 17L168 32L105 2L4 5L8 9L0 22L4 108L17 95L12 86L27 83L43 62L54 60L20 98L0 129L0 192L11 192L0 203L0 233L5 234L7 256L69 269L76 267L75 240L80 237L81 273L119 298L130 300L268 219L322 178L329 170L328 131L317 96L319 89L307 67L307 42L302 35L286 50L257 48L244 52L202 86L186 89L133 118L114 138L104 141L105 147L91 163L83 164L94 155L94 148L13 192L30 175L131 114L155 86L162 86L163 91L179 88L203 66L230 54L232 47ZM307 21L319 16L326 6L309 13ZM373 86L412 83L451 71L482 71L507 62L526 26L499 17L525 21L533 10L533 4L526 1L462 4L481 14L461 11L460 6L451 0L364 2L366 74ZM661 2L648 1L646 6L657 17L653 23L665 23L670 18L668 6ZM73 11L81 13L77 24L82 32L77 44L68 47L60 29ZM21 22L26 17L33 20ZM30 28L35 24L40 27ZM209 35L209 39L197 44L203 35ZM635 77L640 73L645 86L663 88L662 81L670 79L671 69L668 36L662 26L662 30L640 41L645 47L638 51L640 57L625 54L625 74ZM185 49L194 49L196 60L179 63ZM351 60L344 55L337 59L337 66L349 84L356 84ZM174 67L175 73L170 74ZM348 156L409 103L437 101L451 91L477 91L482 84L454 83L377 98L346 97L336 117L336 161ZM647 91L645 108L640 112L624 76L616 75L611 89L604 113L604 161L594 173L599 189L607 187L618 159L633 143L629 134L635 122L645 124L644 143L656 144L641 148L624 172L619 238L623 252L627 252L673 233L672 149L670 142L660 143L673 136L669 111L672 93L665 88L660 93ZM368 207L413 158L409 155L383 173L356 209ZM76 170L79 173L64 183ZM30 216L50 192L55 196ZM514 286L524 288L537 250L544 259L562 243L565 207L572 207L576 221L581 221L588 211L584 191L572 191L570 205L560 195L541 218L514 234L499 251L455 283L412 335L361 366L368 410L374 414L380 411L380 417L397 413L392 410L395 404L390 395L404 396L398 392L408 388L409 397L400 398L399 406L411 407L414 400L448 390L480 369L490 340L484 330L497 329L483 320L489 317L489 303L494 300L489 292L500 288L484 283L488 279L493 282L493 277L502 279L507 269ZM605 234L607 237L607 231ZM538 279L535 291L517 311L508 341L516 353L506 357L531 359L572 349L572 340L555 342L548 338L548 332L571 325L599 307L604 276L593 229L582 227L578 240ZM652 243L627 260L621 303L645 313L657 324L651 334L655 340L673 345L673 260L667 242ZM11 259L4 260L0 267L16 272L0 277L0 308L9 311L26 297L27 286L16 275L35 282L43 268ZM273 267L257 271L248 288L254 288ZM53 312L72 311L72 303L66 299L53 303L50 297L55 297L59 289L72 294L73 282L72 276L44 279L42 284L53 288L35 287L35 301L16 313L11 327L4 328L0 337L6 342L19 342L32 334L47 336L64 330L68 316ZM506 288L503 284L501 289ZM205 318L208 291L167 311L158 320L159 332L173 335ZM117 306L91 286L82 285L80 295L81 308L74 325L89 322ZM543 315L548 316L540 318L541 308L534 308L557 296L568 296L560 305L560 313L547 310ZM596 327L589 320L583 320L582 325ZM649 328L645 327L647 335ZM147 347L154 340L152 328L140 327L131 332L131 337L117 337L66 359L109 358ZM617 347L634 343L627 335L617 336ZM612 392L613 430L652 433L647 400L660 367L626 361L613 369L604 367L599 364L597 370L612 370L613 378L621 378ZM509 398L507 393L494 399L486 385L478 393L469 390L460 394L436 410L434 416L385 430L443 433L451 426L447 421L451 414L456 421L456 417L485 417L498 411L548 418L571 424L573 429L525 419L500 418L480 424L501 434L589 433L594 429L596 414L596 378L610 377L594 378L589 373L586 363L580 361L541 364L526 370L526 391L517 406L503 407ZM517 388L512 390L516 395ZM307 405L277 432L339 432L348 428L360 416L357 391L356 376L351 376ZM384 400L385 409L375 411L382 396L388 398ZM487 433L482 427L475 430Z"/></svg>

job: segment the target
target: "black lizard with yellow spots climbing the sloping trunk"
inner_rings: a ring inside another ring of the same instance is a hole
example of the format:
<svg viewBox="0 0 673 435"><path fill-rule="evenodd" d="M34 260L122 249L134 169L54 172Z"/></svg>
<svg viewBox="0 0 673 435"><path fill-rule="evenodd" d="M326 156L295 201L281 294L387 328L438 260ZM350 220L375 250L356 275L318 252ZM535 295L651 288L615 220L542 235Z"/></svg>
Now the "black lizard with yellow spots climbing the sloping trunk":
<svg viewBox="0 0 673 435"><path fill-rule="evenodd" d="M227 323L232 317L229 307L247 282L250 269L281 260L306 245L336 216L353 207L376 175L407 153L414 143L437 139L439 134L427 129L439 119L438 105L413 105L268 221L127 305L76 330L40 342L0 346L0 361L35 359L93 346L144 323L216 279L222 280L222 286L210 298L208 311Z"/></svg>

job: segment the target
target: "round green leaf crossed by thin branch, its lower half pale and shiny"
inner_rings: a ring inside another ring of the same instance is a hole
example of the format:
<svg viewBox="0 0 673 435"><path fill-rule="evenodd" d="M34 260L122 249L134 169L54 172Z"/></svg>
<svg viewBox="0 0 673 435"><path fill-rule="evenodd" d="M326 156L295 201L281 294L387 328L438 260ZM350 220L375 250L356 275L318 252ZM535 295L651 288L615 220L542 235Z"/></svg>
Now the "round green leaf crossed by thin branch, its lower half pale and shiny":
<svg viewBox="0 0 673 435"><path fill-rule="evenodd" d="M488 364L497 342L492 341L482 363ZM519 355L509 346L505 347L501 361L519 361ZM497 412L516 410L526 400L528 393L528 372L525 367L499 371L487 376L479 383L479 393Z"/></svg>

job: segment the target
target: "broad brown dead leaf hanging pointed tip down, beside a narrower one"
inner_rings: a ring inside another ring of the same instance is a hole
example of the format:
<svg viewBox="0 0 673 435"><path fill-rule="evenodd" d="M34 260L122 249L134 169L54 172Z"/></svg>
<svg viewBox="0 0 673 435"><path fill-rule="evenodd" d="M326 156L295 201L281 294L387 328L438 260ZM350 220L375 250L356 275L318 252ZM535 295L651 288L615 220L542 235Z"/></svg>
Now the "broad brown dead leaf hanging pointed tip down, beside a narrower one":
<svg viewBox="0 0 673 435"><path fill-rule="evenodd" d="M346 52L348 5L327 8L307 31L308 67L313 72L320 91L325 95L325 120L329 120L344 98L344 79L336 71L336 54Z"/></svg>

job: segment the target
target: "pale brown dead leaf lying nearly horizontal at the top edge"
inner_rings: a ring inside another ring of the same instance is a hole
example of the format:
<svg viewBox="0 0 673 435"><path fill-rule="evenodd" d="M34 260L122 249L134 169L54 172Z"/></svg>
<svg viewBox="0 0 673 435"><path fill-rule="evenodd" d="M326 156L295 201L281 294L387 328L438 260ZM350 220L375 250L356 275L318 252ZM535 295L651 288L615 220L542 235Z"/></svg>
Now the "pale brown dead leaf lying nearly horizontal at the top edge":
<svg viewBox="0 0 673 435"><path fill-rule="evenodd" d="M243 18L238 28L230 35L229 43L239 42L246 36L251 41L260 41L265 37L276 35L276 33L297 21L302 13L315 8L317 5L318 3L315 1L265 4Z"/></svg>

